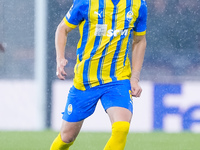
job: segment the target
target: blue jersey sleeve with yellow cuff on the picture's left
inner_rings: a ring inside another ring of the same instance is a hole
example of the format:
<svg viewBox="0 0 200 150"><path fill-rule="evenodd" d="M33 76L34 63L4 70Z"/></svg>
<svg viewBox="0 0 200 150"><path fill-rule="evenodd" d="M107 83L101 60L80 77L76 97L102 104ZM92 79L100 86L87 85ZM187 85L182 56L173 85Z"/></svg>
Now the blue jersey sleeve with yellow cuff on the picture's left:
<svg viewBox="0 0 200 150"><path fill-rule="evenodd" d="M63 21L65 24L70 28L76 28L76 26L84 20L83 14L82 14L82 8L83 4L81 3L82 0L75 0L65 17L63 18Z"/></svg>

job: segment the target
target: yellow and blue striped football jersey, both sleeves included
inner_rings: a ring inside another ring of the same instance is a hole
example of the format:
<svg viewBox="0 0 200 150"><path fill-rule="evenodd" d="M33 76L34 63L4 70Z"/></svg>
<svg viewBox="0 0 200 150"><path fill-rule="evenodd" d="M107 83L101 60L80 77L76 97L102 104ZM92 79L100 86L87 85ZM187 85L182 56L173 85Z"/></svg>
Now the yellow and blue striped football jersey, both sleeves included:
<svg viewBox="0 0 200 150"><path fill-rule="evenodd" d="M79 26L74 86L79 90L129 79L131 33L146 34L145 0L75 0L64 17Z"/></svg>

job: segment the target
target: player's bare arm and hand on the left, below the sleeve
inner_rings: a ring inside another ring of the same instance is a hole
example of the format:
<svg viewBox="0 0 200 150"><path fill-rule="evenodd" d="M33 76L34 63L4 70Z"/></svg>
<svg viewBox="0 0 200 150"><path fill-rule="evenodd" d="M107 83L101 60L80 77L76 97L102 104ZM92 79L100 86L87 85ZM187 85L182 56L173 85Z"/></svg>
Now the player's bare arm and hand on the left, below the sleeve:
<svg viewBox="0 0 200 150"><path fill-rule="evenodd" d="M56 75L59 79L64 80L67 73L64 68L67 65L68 61L65 59L65 46L67 43L67 35L72 30L68 27L65 22L62 20L57 27L55 35L55 46L56 46L56 62L57 70Z"/></svg>

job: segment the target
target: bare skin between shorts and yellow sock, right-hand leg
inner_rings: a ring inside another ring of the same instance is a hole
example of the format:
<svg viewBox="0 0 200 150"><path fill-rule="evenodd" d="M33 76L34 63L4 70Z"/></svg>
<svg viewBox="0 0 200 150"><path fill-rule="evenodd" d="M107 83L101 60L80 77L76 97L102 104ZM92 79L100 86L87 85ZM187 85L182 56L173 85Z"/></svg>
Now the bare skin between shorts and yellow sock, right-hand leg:
<svg viewBox="0 0 200 150"><path fill-rule="evenodd" d="M110 107L106 111L112 124L117 121L131 122L132 113L126 108Z"/></svg>

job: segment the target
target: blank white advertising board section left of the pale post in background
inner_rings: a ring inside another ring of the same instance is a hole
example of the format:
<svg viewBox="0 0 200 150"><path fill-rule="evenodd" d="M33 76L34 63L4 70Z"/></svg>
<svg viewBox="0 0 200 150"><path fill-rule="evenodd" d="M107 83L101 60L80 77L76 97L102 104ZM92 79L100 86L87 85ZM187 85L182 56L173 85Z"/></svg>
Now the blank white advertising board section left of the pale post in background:
<svg viewBox="0 0 200 150"><path fill-rule="evenodd" d="M0 130L41 130L45 109L32 80L0 80Z"/></svg>

